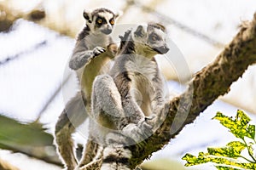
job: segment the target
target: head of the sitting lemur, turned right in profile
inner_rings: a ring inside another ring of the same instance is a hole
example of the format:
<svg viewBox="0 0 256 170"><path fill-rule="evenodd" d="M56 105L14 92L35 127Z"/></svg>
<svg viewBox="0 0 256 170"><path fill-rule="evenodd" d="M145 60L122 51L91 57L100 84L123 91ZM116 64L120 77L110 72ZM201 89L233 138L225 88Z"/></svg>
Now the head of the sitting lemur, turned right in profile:
<svg viewBox="0 0 256 170"><path fill-rule="evenodd" d="M134 32L135 41L144 44L145 48L156 54L166 54L169 48L166 44L166 32L160 24L148 24L147 31L143 26L138 26Z"/></svg>

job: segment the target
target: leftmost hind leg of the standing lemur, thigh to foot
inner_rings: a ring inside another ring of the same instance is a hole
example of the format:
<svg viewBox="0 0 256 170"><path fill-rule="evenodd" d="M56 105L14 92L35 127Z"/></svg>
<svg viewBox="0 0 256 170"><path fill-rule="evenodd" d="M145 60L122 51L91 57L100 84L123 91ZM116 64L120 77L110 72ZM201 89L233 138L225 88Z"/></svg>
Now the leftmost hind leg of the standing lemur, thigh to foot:
<svg viewBox="0 0 256 170"><path fill-rule="evenodd" d="M75 132L75 127L79 127L87 117L84 101L81 94L78 93L67 103L55 125L57 151L67 170L73 170L78 164L72 134Z"/></svg>

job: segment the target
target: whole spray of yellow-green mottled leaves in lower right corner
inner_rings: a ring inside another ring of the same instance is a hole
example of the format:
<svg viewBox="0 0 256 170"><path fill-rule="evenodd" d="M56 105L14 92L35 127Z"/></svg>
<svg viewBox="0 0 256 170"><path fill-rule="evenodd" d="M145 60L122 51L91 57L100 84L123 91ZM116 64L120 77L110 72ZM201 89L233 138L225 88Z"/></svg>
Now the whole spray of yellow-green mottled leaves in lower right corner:
<svg viewBox="0 0 256 170"><path fill-rule="evenodd" d="M243 112L237 111L236 117L224 116L218 112L212 119L218 120L224 127L230 129L237 141L231 141L224 147L207 148L207 153L200 152L198 156L186 154L183 160L186 167L207 162L213 162L218 170L256 169L256 157L253 156L255 146L255 125L249 124L251 119ZM247 152L247 156L244 154Z"/></svg>

